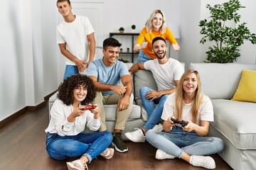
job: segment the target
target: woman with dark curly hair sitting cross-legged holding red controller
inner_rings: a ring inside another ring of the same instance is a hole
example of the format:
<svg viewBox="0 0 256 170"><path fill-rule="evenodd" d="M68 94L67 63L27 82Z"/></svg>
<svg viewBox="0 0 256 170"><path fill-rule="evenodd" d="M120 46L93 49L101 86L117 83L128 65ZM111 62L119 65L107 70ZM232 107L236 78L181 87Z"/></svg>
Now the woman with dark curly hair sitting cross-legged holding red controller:
<svg viewBox="0 0 256 170"><path fill-rule="evenodd" d="M90 102L96 96L93 81L82 74L64 80L58 88L58 99L50 109L50 123L46 129L46 150L53 159L80 157L67 162L68 169L85 169L87 163L101 155L110 159L114 149L107 148L112 142L110 132L83 133L85 125L90 130L100 128L100 112Z"/></svg>

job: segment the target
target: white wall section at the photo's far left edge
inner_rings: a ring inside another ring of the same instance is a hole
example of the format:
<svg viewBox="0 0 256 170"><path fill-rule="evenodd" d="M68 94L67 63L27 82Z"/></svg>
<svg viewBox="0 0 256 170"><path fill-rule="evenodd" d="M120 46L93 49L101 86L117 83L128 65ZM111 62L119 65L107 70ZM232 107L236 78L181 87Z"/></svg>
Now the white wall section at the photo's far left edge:
<svg viewBox="0 0 256 170"><path fill-rule="evenodd" d="M1 2L0 120L26 106L22 1Z"/></svg>

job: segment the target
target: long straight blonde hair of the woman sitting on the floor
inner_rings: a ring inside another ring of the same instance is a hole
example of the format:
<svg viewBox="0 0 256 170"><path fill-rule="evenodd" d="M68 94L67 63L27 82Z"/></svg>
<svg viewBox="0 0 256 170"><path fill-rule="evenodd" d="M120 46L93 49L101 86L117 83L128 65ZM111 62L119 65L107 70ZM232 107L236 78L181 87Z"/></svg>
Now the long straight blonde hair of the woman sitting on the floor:
<svg viewBox="0 0 256 170"><path fill-rule="evenodd" d="M196 123L198 121L198 115L199 115L199 108L202 103L202 94L201 94L201 80L199 77L199 74L196 70L189 69L186 72L183 73L178 86L176 87L176 118L181 120L181 115L184 108L184 90L183 90L183 81L189 74L196 74L196 79L198 81L198 87L196 89L196 94L193 98L192 102L192 108L191 108L191 115L192 115L192 122Z"/></svg>

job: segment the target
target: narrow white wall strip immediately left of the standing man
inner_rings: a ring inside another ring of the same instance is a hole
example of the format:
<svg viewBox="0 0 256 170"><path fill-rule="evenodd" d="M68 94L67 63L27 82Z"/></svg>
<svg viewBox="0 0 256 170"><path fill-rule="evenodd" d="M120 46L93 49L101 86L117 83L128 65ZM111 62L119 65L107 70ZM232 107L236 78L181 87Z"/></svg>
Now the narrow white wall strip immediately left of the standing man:
<svg viewBox="0 0 256 170"><path fill-rule="evenodd" d="M58 21L58 9L56 1L42 0L42 45L43 45L43 82L45 96L57 89L60 80L57 79L60 72L58 64L58 45L56 42L56 26ZM46 10L47 8L47 10ZM62 78L63 79L63 78Z"/></svg>

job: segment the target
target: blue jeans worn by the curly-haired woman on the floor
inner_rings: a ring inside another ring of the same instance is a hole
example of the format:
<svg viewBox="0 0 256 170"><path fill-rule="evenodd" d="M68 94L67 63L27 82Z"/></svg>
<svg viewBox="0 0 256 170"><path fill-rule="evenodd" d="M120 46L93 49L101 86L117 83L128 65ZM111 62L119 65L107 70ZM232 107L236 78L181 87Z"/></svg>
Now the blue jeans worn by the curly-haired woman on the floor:
<svg viewBox="0 0 256 170"><path fill-rule="evenodd" d="M85 156L89 163L100 155L112 142L110 132L79 133L74 136L60 136L47 133L46 151L53 159L63 160L68 157Z"/></svg>

